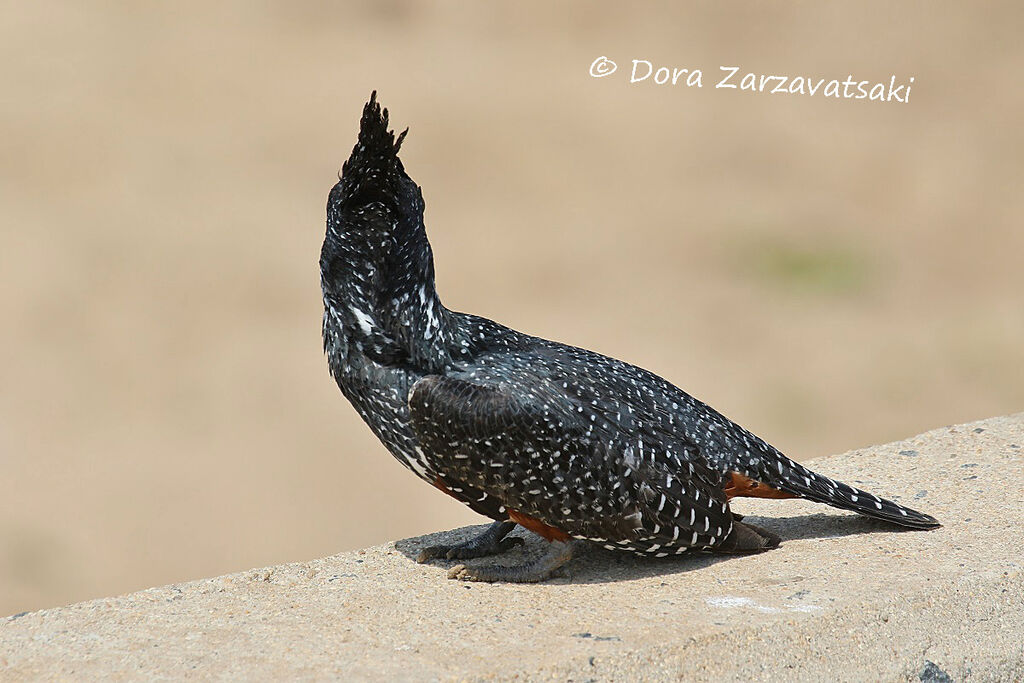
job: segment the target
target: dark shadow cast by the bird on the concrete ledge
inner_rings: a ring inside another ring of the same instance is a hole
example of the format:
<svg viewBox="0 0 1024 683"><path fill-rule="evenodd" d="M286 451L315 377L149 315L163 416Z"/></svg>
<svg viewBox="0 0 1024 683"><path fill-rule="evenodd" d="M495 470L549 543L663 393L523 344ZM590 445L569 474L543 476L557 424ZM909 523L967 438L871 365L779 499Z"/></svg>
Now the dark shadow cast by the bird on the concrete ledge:
<svg viewBox="0 0 1024 683"><path fill-rule="evenodd" d="M835 515L817 513L796 517L744 517L759 526L771 529L782 537L782 547L787 541L807 541L839 539L862 533L909 531L892 524L880 522L857 515ZM395 543L395 549L415 562L420 550L433 545L453 545L462 543L480 533L486 525L464 526L451 531L441 531L427 536L404 539ZM513 536L525 539L524 546L515 548L495 557L474 560L441 561L430 563L438 569L438 577L443 578L449 567L465 562L473 564L507 564L514 565L540 557L546 552L547 543L529 531L517 527ZM769 551L770 552L770 551ZM670 575L685 571L706 569L719 562L746 557L744 555L725 555L712 552L690 552L675 557L640 557L629 553L605 550L596 545L585 546L571 562L563 569L562 575L556 575L550 584L605 584L620 581L634 581L658 575Z"/></svg>

